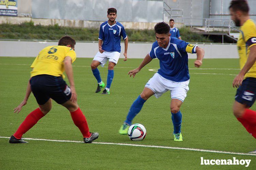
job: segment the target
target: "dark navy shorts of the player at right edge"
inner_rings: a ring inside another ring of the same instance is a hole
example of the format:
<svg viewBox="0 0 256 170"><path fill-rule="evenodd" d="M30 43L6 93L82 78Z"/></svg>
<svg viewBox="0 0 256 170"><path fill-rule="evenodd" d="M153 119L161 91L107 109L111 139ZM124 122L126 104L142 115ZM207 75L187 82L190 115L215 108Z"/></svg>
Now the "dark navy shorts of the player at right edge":
<svg viewBox="0 0 256 170"><path fill-rule="evenodd" d="M237 89L235 100L251 107L256 99L256 78L248 77L243 80L242 86Z"/></svg>

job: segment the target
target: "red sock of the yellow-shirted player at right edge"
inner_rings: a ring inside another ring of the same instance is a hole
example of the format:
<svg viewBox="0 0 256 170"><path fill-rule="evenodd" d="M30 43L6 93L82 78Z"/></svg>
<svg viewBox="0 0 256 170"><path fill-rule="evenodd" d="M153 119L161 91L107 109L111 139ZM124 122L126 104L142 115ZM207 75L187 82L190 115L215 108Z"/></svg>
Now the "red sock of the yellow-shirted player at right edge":
<svg viewBox="0 0 256 170"><path fill-rule="evenodd" d="M242 117L237 118L254 138L256 138L256 112L245 109Z"/></svg>

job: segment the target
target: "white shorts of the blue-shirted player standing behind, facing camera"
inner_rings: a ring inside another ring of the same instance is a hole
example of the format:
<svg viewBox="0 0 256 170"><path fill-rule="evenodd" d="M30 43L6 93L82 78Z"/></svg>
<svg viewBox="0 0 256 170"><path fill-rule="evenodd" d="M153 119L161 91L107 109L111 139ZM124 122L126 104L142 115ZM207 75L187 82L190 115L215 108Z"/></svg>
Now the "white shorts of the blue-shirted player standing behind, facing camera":
<svg viewBox="0 0 256 170"><path fill-rule="evenodd" d="M106 52L106 51L104 51L103 53L98 52L94 56L93 60L99 61L101 63L101 67L104 67L107 60L117 64L119 56L120 56L120 53L117 52L117 51L115 51L115 52Z"/></svg>

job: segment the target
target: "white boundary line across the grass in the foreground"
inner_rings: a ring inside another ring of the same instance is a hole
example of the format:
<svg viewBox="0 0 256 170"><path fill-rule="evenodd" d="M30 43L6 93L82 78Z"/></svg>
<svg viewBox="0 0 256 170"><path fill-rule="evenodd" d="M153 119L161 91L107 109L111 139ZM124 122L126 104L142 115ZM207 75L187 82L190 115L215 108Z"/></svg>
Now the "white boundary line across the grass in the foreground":
<svg viewBox="0 0 256 170"><path fill-rule="evenodd" d="M9 139L10 137L0 136L0 138L7 138L7 139ZM74 141L74 140L53 140L53 139L36 139L36 138L26 138L26 140L41 140L41 141L55 141L55 142L84 143L82 141ZM136 146L136 147L161 148L161 149L178 149L178 150L199 151L199 152L212 152L212 153L225 153L225 154L235 154L235 155L252 155L252 156L256 156L256 154L254 154L254 153L225 152L225 151L214 151L214 150L193 149L193 148L179 148L179 147L169 147L169 146L137 145L137 144L122 144L122 143L107 143L107 142L93 142L92 144Z"/></svg>

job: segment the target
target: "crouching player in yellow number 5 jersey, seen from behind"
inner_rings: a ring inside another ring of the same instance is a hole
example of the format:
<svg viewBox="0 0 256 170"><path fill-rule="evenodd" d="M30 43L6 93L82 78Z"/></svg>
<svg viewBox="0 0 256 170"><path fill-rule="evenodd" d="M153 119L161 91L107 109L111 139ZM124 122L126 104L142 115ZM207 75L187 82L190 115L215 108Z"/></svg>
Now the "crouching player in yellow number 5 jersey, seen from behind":
<svg viewBox="0 0 256 170"><path fill-rule="evenodd" d="M51 99L70 111L74 124L81 131L85 143L91 143L98 138L98 133L89 132L86 118L77 105L72 70L72 63L76 60L75 44L76 41L73 38L64 36L59 40L58 45L47 46L35 58L31 65L33 70L31 71L25 98L14 109L14 113L19 113L22 106L27 104L31 92L33 92L39 108L32 111L25 118L17 131L11 136L9 143L27 143L22 135L51 110ZM63 80L64 71L69 79L70 87Z"/></svg>

